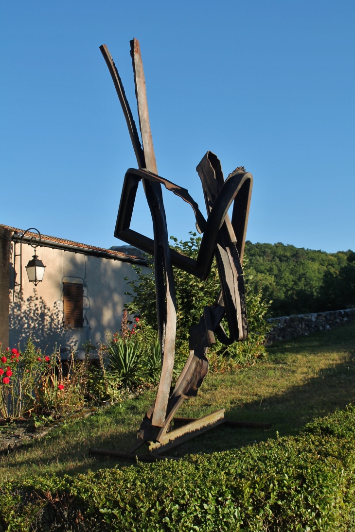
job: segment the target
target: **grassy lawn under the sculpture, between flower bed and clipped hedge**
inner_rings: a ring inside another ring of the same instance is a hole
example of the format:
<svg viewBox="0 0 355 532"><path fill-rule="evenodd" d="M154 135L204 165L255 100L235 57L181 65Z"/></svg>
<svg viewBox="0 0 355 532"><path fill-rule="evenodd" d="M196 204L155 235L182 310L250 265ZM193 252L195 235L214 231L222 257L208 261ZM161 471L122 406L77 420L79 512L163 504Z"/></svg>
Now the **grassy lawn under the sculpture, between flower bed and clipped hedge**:
<svg viewBox="0 0 355 532"><path fill-rule="evenodd" d="M232 420L265 421L270 430L219 427L176 448L176 455L212 453L255 441L296 435L315 418L343 409L355 400L355 324L276 344L268 358L252 368L208 375L199 395L178 415L201 417L219 408ZM153 400L150 390L121 406L54 429L45 439L3 455L2 481L46 473L73 475L127 465L90 458L90 447L127 449L135 441L142 416ZM173 454L171 451L169 454ZM131 462L129 462L131 463Z"/></svg>

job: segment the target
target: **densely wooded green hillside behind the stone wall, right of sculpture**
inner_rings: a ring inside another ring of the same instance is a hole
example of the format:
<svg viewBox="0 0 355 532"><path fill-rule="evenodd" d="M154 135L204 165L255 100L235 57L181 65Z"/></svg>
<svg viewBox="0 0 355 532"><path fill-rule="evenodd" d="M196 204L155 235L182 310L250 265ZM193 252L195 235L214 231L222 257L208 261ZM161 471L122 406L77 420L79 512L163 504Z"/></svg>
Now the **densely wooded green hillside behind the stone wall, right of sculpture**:
<svg viewBox="0 0 355 532"><path fill-rule="evenodd" d="M273 316L355 306L355 253L306 250L292 245L245 245L249 287L273 300Z"/></svg>

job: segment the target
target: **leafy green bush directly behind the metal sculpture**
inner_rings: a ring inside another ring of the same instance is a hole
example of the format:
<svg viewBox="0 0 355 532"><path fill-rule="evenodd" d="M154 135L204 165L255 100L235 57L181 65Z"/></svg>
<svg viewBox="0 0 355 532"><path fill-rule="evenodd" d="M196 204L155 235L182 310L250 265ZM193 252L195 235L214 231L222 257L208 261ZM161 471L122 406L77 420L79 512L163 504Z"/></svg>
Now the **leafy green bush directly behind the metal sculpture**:
<svg viewBox="0 0 355 532"><path fill-rule="evenodd" d="M191 237L186 242L178 242L177 238L170 237L173 246L177 251L193 259L196 259L201 237L196 237L196 233L191 232ZM156 323L156 300L154 285L154 267L150 264L152 271L143 273L142 268L133 266L136 271L136 279L129 281L131 292L126 294L132 296L132 300L126 304L130 314L139 315L143 323L151 330L157 329ZM244 268L247 269L247 259L244 257ZM202 281L197 277L186 273L178 268L174 269L176 306L177 306L177 335L176 335L176 367L179 368L186 360L188 353L188 329L200 320L205 305L212 305L219 294L220 282L216 261L213 261L212 268L207 281ZM211 348L211 355L224 355L232 357L235 363L249 365L257 358L265 354L263 340L269 325L266 321L269 303L262 296L261 288L254 293L248 290L249 276L245 277L246 285L246 308L248 314L250 337L245 342L238 342L232 346L222 345L218 340ZM228 331L226 320L223 322ZM217 364L218 365L218 364Z"/></svg>

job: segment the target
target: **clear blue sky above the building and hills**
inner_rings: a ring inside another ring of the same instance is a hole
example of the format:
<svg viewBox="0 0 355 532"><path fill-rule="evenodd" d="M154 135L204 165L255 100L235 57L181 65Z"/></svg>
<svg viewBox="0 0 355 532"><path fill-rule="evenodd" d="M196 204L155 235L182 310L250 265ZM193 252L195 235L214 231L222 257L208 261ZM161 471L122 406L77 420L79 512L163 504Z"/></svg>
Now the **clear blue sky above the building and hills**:
<svg viewBox="0 0 355 532"><path fill-rule="evenodd" d="M355 3L0 3L0 222L110 247L136 160L99 46L136 114L129 40L139 39L158 170L204 212L196 165L254 176L247 238L355 249ZM194 230L167 193L169 234ZM152 235L140 189L133 229Z"/></svg>

